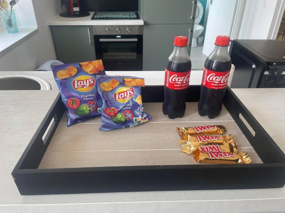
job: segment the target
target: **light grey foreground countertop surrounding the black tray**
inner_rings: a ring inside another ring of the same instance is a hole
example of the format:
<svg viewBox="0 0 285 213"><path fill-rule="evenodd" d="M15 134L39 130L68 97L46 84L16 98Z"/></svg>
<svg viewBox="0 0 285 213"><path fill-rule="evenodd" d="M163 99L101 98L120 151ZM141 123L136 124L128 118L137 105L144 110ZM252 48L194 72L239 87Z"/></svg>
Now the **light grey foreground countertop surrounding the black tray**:
<svg viewBox="0 0 285 213"><path fill-rule="evenodd" d="M136 73L133 72L133 75ZM285 119L283 113L285 89L233 89L233 91L282 151L285 152L284 130L282 131ZM94 212L94 210L98 212L125 212L134 211L134 209L144 212L157 210L189 212L192 209L201 212L285 210L284 187L247 190L21 196L13 181L11 172L57 94L57 90L0 91L2 100L2 104L0 104L0 132L2 133L0 143L0 162L2 162L0 164L1 212ZM18 107L11 107L17 102L21 103L20 110ZM37 107L35 108L35 106ZM194 176L195 174L193 174Z"/></svg>

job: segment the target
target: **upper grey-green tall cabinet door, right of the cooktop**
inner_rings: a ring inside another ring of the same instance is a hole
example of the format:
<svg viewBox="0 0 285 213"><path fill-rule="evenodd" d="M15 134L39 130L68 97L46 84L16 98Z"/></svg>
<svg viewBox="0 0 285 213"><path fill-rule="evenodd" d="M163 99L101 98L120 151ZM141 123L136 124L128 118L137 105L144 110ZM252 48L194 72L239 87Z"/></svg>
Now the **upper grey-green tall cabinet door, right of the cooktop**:
<svg viewBox="0 0 285 213"><path fill-rule="evenodd" d="M191 24L195 1L139 0L138 7L145 24Z"/></svg>

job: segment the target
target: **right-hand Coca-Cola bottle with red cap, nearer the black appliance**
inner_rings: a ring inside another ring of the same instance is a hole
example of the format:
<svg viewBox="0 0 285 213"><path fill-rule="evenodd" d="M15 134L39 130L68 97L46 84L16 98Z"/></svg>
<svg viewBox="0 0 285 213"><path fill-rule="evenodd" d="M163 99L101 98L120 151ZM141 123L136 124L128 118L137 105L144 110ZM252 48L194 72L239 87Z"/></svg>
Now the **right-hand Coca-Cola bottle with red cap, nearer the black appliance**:
<svg viewBox="0 0 285 213"><path fill-rule="evenodd" d="M222 100L232 67L229 36L217 36L215 49L205 61L198 112L210 119L221 113Z"/></svg>

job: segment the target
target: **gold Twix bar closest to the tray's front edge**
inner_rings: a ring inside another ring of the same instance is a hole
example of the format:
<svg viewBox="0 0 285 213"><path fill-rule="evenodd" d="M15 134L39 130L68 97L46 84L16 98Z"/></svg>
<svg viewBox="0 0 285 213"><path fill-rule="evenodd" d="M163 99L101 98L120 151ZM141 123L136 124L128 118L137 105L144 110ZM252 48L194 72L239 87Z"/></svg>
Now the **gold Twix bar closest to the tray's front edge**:
<svg viewBox="0 0 285 213"><path fill-rule="evenodd" d="M233 154L229 152L200 152L199 149L196 149L193 156L196 162L200 163L248 164L251 162L247 152Z"/></svg>

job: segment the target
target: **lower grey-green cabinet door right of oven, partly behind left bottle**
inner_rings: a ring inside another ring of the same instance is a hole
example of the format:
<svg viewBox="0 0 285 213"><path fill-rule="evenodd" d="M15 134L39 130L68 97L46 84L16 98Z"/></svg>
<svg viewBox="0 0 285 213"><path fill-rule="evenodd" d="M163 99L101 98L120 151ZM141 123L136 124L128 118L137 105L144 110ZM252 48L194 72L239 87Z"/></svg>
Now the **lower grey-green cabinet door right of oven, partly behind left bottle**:
<svg viewBox="0 0 285 213"><path fill-rule="evenodd" d="M143 70L164 70L173 51L174 37L188 36L191 27L191 24L144 25Z"/></svg>

